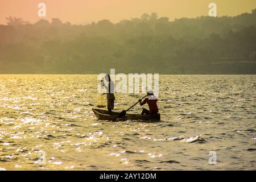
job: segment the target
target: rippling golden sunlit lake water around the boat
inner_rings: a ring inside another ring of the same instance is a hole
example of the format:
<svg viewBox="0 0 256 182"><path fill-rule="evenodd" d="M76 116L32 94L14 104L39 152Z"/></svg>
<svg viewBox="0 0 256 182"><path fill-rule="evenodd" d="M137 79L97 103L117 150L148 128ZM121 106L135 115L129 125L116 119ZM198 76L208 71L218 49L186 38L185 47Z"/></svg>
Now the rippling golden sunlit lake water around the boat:
<svg viewBox="0 0 256 182"><path fill-rule="evenodd" d="M97 121L96 77L0 75L0 169L256 169L255 75L160 75L161 122Z"/></svg>

